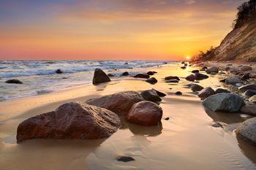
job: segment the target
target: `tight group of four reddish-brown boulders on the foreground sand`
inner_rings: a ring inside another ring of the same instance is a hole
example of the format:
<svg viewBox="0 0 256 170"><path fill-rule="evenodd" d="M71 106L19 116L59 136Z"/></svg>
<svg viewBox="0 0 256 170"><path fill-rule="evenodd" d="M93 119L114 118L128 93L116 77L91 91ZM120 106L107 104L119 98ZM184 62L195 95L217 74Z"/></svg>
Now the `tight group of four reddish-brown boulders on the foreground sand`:
<svg viewBox="0 0 256 170"><path fill-rule="evenodd" d="M69 102L53 112L24 120L18 125L17 142L28 139L102 139L121 127L119 116L130 123L158 125L165 96L157 90L127 91L85 102Z"/></svg>

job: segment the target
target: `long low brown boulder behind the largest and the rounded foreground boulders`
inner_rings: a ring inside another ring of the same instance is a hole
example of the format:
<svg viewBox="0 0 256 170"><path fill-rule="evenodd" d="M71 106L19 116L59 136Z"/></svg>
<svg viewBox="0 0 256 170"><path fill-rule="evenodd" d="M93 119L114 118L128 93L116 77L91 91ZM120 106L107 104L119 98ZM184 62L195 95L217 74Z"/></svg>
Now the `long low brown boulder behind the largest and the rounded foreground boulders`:
<svg viewBox="0 0 256 170"><path fill-rule="evenodd" d="M102 107L115 112L117 115L124 115L129 112L133 104L145 100L140 93L135 91L126 91L122 93L114 93L99 98L91 98L86 104Z"/></svg>

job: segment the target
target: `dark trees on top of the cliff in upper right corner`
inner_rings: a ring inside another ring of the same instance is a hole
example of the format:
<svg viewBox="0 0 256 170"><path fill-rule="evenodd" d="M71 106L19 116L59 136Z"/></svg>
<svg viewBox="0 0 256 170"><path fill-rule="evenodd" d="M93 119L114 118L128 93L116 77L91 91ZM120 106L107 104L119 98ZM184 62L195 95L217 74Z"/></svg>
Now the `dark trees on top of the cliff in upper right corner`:
<svg viewBox="0 0 256 170"><path fill-rule="evenodd" d="M238 7L238 13L236 15L236 20L234 20L233 28L240 28L244 26L245 23L256 21L256 0L250 0L244 2Z"/></svg>

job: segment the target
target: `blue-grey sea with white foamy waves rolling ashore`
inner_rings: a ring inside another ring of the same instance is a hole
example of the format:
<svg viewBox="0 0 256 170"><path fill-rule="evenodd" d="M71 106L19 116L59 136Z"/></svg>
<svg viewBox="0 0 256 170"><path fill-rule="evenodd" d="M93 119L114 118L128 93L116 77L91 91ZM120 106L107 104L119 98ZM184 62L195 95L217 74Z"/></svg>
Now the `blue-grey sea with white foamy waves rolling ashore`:
<svg viewBox="0 0 256 170"><path fill-rule="evenodd" d="M162 66L171 61L0 61L0 101L53 93L76 85L91 83L94 69L107 74L136 74L145 68ZM56 74L61 69L62 74ZM115 78L115 77L114 77ZM7 80L23 84L8 84Z"/></svg>

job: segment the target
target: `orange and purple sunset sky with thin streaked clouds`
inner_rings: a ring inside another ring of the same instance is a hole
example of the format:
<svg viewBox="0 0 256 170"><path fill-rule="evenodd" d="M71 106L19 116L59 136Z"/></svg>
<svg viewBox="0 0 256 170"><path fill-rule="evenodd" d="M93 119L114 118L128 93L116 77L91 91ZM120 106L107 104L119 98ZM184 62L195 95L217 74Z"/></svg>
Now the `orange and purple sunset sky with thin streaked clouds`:
<svg viewBox="0 0 256 170"><path fill-rule="evenodd" d="M242 0L0 0L0 60L182 60L218 46Z"/></svg>

